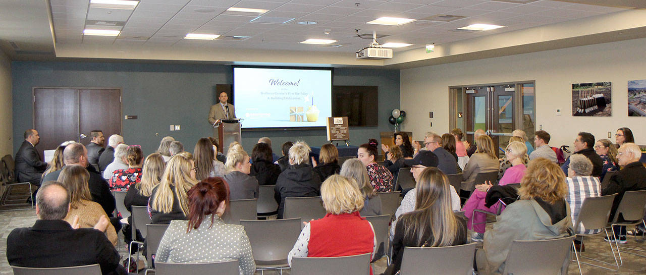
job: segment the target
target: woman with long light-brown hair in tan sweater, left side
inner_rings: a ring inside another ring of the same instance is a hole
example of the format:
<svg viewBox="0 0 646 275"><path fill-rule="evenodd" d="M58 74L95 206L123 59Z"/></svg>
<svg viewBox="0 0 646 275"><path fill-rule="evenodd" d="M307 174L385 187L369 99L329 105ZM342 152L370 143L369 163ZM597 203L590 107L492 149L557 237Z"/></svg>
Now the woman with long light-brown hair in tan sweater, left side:
<svg viewBox="0 0 646 275"><path fill-rule="evenodd" d="M81 165L67 165L61 170L57 181L70 192L70 210L67 212L65 221L70 224L78 224L81 228L94 228L99 219L108 219L105 210L98 203L92 201L88 181L90 173ZM108 223L105 229L105 236L112 245L118 241L117 233L112 223Z"/></svg>

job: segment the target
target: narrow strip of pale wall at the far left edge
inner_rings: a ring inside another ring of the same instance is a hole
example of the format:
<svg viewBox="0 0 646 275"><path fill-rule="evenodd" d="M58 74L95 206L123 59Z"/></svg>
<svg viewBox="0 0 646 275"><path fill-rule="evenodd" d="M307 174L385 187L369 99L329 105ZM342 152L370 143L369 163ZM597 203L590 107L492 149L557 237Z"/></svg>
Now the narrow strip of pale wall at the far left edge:
<svg viewBox="0 0 646 275"><path fill-rule="evenodd" d="M0 156L13 154L11 61L0 50Z"/></svg>

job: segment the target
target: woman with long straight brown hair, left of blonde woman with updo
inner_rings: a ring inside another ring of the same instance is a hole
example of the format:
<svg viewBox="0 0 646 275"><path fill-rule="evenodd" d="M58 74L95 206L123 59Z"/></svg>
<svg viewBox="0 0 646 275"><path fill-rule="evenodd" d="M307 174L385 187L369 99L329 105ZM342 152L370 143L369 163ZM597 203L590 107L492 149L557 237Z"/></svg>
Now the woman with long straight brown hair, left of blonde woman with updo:
<svg viewBox="0 0 646 275"><path fill-rule="evenodd" d="M224 163L215 158L213 143L202 137L193 149L195 161L195 179L198 181L209 177L224 177Z"/></svg>

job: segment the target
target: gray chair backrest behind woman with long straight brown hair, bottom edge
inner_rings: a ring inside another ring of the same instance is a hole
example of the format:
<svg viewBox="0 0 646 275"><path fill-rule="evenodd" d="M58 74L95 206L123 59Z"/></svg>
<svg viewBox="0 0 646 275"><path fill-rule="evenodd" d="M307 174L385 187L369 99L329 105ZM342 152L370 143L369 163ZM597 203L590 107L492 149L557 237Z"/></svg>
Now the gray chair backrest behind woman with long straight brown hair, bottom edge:
<svg viewBox="0 0 646 275"><path fill-rule="evenodd" d="M452 247L404 247L401 274L471 275L475 245L454 245ZM464 263L464 264L457 264Z"/></svg>

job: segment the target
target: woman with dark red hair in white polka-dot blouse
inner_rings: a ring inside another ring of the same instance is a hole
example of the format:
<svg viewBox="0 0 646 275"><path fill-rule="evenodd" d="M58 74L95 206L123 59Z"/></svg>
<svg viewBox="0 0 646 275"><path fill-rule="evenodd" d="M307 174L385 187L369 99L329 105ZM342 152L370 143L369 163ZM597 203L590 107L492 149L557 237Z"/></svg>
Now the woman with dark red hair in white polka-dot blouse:
<svg viewBox="0 0 646 275"><path fill-rule="evenodd" d="M229 203L222 178L205 178L188 192L188 220L174 220L161 238L158 263L212 263L238 260L240 274L253 275L256 264L242 225L220 218ZM201 245L193 245L201 243Z"/></svg>

